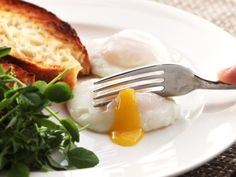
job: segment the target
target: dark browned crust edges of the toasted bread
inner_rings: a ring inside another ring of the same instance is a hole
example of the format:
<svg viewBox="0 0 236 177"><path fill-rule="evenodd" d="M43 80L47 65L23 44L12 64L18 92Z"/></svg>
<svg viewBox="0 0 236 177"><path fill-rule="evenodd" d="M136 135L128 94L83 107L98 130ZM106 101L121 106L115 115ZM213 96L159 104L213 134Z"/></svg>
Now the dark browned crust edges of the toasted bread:
<svg viewBox="0 0 236 177"><path fill-rule="evenodd" d="M68 23L61 21L57 16L41 7L20 0L0 0L0 13L1 11L23 16L32 23L39 25L39 28L45 29L50 35L56 37L63 43L70 44L70 47L72 46L71 50L73 56L75 56L75 59L78 60L82 66L80 74L87 75L90 73L91 65L87 51L77 36L76 31ZM40 62L34 62L33 58L31 60L29 57L27 58L16 52L12 52L10 55L20 60L20 66L35 73L38 79L50 81L53 77L58 75L59 72L65 69L61 63L55 62L55 64L46 65L43 63L43 59ZM75 85L75 76L77 76L78 71L79 65L71 67L71 71L68 74L70 77L66 76L64 78L71 87Z"/></svg>

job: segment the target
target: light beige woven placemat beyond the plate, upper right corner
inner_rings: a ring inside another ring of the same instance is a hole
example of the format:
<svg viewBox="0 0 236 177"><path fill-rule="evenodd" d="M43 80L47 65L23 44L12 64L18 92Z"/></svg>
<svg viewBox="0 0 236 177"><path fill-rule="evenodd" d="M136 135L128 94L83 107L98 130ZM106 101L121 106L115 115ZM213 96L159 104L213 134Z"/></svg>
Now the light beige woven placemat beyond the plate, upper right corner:
<svg viewBox="0 0 236 177"><path fill-rule="evenodd" d="M236 36L236 0L156 0L213 22Z"/></svg>

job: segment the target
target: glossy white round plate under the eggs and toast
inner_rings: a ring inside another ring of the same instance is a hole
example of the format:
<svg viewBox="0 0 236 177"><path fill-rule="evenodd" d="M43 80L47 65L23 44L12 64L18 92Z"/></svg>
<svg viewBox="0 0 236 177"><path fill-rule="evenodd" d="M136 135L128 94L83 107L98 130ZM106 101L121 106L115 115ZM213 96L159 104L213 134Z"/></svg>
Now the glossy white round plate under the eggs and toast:
<svg viewBox="0 0 236 177"><path fill-rule="evenodd" d="M143 30L191 59L199 74L216 79L221 68L236 62L235 39L196 16L151 1L138 0L31 0L70 22L82 41L107 36L122 29ZM109 137L85 131L81 146L100 158L95 168L32 173L32 177L144 177L183 173L212 159L236 139L236 92L207 93L197 119L178 122L146 134L137 146L123 148ZM188 99L197 104L201 99ZM195 104L194 103L194 104Z"/></svg>

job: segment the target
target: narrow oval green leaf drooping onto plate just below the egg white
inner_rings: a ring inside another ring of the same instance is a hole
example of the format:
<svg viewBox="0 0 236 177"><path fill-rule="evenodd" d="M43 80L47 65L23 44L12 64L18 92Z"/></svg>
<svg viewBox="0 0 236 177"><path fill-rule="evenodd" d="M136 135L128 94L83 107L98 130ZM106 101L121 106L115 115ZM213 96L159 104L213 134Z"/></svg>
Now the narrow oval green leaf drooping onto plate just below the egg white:
<svg viewBox="0 0 236 177"><path fill-rule="evenodd" d="M79 142L79 129L71 119L62 119L61 124L69 132L74 141Z"/></svg>

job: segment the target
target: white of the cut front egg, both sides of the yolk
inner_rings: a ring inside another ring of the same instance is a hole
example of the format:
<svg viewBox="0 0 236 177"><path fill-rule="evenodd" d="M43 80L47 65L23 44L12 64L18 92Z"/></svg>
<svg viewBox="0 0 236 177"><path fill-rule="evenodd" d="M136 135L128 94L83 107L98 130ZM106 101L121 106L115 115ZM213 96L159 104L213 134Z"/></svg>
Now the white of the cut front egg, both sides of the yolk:
<svg viewBox="0 0 236 177"><path fill-rule="evenodd" d="M116 100L103 108L93 107L93 82L96 79L83 79L74 89L76 97L67 103L72 118L81 126L89 124L96 132L108 132L114 122ZM172 100L153 93L136 92L136 100L141 115L141 127L151 131L168 126L180 118L180 108Z"/></svg>

